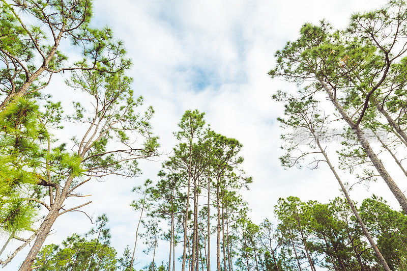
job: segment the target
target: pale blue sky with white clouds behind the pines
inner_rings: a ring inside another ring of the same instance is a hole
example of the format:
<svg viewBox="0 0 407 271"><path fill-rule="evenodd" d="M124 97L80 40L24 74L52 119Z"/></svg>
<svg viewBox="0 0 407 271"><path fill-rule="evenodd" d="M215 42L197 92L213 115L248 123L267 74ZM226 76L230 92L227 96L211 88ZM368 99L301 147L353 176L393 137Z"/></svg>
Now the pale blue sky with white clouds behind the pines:
<svg viewBox="0 0 407 271"><path fill-rule="evenodd" d="M268 76L274 66L274 52L295 39L305 22L326 18L335 28L343 28L352 13L383 4L377 0L98 0L94 23L110 26L125 42L134 63L129 75L134 78L135 93L155 109L152 125L160 137L160 151L171 152L176 144L172 132L188 109L205 112L212 129L243 144L243 168L253 177L250 190L243 192L244 200L252 209L253 221L259 223L273 219L273 206L279 197L327 202L340 195L325 165L312 171L280 166L281 130L276 118L282 114L282 106L273 102L271 95L295 86ZM56 89L64 88L55 84ZM126 245L132 246L135 235L137 214L129 206L134 198L131 188L147 178L156 179L164 159L162 155L142 161L140 177L109 177L82 188L83 194L92 194L86 200L93 201L85 210L94 217L108 215L112 245L119 254ZM352 182L351 176L344 176ZM395 175L396 182L397 178ZM398 183L405 191L407 185ZM351 195L362 200L372 193L397 206L382 180L368 187L358 185ZM66 214L54 224L46 243L60 243L72 233L84 233L91 227L84 215ZM166 259L166 249L159 248L160 261ZM23 250L4 270L16 270L25 254ZM138 267L149 257L140 253Z"/></svg>

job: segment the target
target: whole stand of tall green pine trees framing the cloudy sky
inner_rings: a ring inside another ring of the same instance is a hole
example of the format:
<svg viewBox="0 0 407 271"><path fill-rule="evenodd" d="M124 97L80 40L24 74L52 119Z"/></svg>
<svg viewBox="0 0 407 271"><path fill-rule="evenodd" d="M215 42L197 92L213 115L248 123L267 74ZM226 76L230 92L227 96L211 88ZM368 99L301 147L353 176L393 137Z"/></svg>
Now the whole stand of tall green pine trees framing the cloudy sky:
<svg viewBox="0 0 407 271"><path fill-rule="evenodd" d="M273 95L284 105L282 166L326 166L341 197L281 198L274 217L253 222L242 144L188 110L161 171L133 189L135 239L123 256L110 244L106 215L87 233L43 246L61 215L88 215L84 184L139 176L138 161L159 155L154 110L132 89L124 44L92 17L91 0L0 0L0 265L26 251L20 271L407 269L405 180L392 177L407 177L401 0L354 14L343 30L304 24L269 72L297 86ZM72 92L69 107L49 86L56 76ZM353 185L375 179L401 211L381 197L353 200ZM150 263L140 267L140 259Z"/></svg>

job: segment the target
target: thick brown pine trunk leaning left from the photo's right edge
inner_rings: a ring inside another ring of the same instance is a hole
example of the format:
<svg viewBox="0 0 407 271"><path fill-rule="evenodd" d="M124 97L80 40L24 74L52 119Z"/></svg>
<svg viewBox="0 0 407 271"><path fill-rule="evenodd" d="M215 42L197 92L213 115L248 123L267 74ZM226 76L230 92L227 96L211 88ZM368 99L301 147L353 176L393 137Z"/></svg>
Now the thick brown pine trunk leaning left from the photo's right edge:
<svg viewBox="0 0 407 271"><path fill-rule="evenodd" d="M356 136L358 137L359 142L361 143L363 149L369 156L369 158L372 161L377 172L379 172L380 176L382 176L383 180L386 182L387 186L390 188L390 191L393 193L394 197L397 199L398 203L401 205L401 208L403 209L404 213L407 214L407 198L401 192L401 190L397 186L397 184L393 181L390 174L387 172L384 165L380 161L380 159L377 157L377 155L374 153L373 149L370 147L369 142L367 141L365 135L363 134L363 131L360 129L359 126L356 126L355 122L346 114L346 112L344 111L342 106L333 96L331 90L328 88L326 83L324 83L322 80L319 80L319 82L323 86L325 92L328 94L331 102L334 104L334 106L336 107L338 112L341 114L342 118L356 133Z"/></svg>

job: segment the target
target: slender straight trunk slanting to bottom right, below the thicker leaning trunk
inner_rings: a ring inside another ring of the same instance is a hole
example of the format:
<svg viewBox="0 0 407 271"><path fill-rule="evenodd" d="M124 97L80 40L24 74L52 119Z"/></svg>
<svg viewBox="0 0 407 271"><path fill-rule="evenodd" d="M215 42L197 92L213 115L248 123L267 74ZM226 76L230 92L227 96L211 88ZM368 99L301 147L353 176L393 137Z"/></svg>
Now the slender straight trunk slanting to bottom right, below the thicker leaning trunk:
<svg viewBox="0 0 407 271"><path fill-rule="evenodd" d="M336 173L335 168L332 166L331 161L329 160L327 153L325 152L324 148L321 146L321 143L319 143L319 140L316 137L316 135L313 134L313 136L315 138L315 141L316 141L316 144L318 145L319 150L324 155L325 160L326 160L329 168L331 169L331 171L334 174L336 180L338 181L338 183L340 185L340 188L341 188L343 194L345 195L347 203L349 204L349 206L351 207L353 213L355 214L356 220L358 221L359 225L362 228L362 232L364 233L364 235L368 239L368 241L370 243L370 246L373 248L373 251L376 254L377 258L379 258L379 261L383 265L383 268L385 269L385 271L390 271L389 265L387 264L385 258L383 257L382 253L380 252L380 250L377 248L376 243L374 242L373 238L371 237L369 231L366 229L366 226L363 223L362 218L359 215L358 209L356 208L356 206L353 203L351 197L347 193L347 190L346 190L345 186L343 185L342 180L339 178L339 175Z"/></svg>

